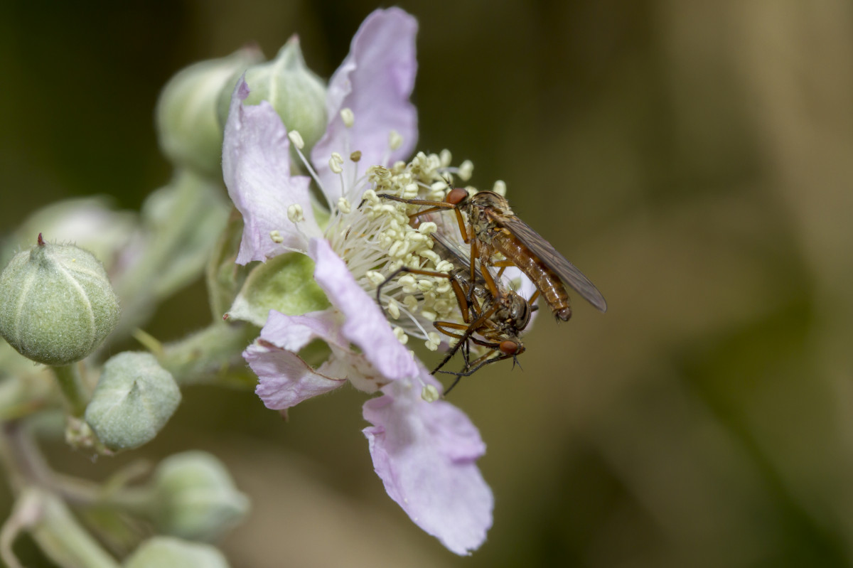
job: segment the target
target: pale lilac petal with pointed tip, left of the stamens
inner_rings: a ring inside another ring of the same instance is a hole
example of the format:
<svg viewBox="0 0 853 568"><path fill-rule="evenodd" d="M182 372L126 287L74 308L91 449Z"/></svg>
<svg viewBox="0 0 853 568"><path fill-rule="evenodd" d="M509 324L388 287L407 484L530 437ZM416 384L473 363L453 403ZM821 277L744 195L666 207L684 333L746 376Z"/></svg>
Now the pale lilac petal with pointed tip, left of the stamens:
<svg viewBox="0 0 853 568"><path fill-rule="evenodd" d="M321 234L310 205L310 177L290 175L287 130L269 102L244 107L248 94L241 79L231 96L222 148L225 185L245 223L237 264L305 251L306 235ZM294 204L305 215L302 233L287 218L287 208Z"/></svg>

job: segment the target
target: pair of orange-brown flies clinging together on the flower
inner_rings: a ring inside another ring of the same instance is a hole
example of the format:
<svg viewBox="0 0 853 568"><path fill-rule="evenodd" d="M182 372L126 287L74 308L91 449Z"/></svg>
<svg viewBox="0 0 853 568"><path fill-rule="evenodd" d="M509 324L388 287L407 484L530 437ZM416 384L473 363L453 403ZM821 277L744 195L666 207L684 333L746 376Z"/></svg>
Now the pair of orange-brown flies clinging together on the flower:
<svg viewBox="0 0 853 568"><path fill-rule="evenodd" d="M607 310L606 301L595 285L577 270L574 264L557 252L554 246L516 217L508 201L500 194L483 191L469 195L465 189L454 188L444 201L407 200L390 194L377 196L409 205L426 206L425 209L409 215L413 223L424 215L452 210L459 224L462 241L471 246L470 258L465 258L464 255L452 252L440 239L435 241L439 244L439 249L444 249L456 257L456 260L447 258L457 268L446 277L450 278L454 286L467 327L448 322L435 323L440 332L458 338L459 342L433 373L450 360L460 345L467 345L469 340L491 351L473 363L469 363L466 356L465 369L461 373L454 373L457 375L457 382L459 376L472 374L486 363L519 355L524 351L524 345L519 341L518 333L526 327L532 311L531 304L536 301L539 293L545 298L554 316L564 322L572 316L566 284L598 310ZM433 237L435 238L435 235ZM476 267L478 259L480 270ZM508 266L517 267L537 287L537 293L529 300L501 286L500 277ZM467 267L467 281L461 278L461 267ZM497 279L490 274L490 267L500 269ZM464 293L461 293L462 290ZM473 299L478 294L481 298L479 308ZM509 306L514 306L516 311L513 312ZM526 313L526 318L514 317L522 311ZM462 329L463 333L452 331L458 332ZM486 338L486 341L476 339L475 333ZM465 353L467 346L462 349ZM500 351L501 355L488 358L496 351Z"/></svg>

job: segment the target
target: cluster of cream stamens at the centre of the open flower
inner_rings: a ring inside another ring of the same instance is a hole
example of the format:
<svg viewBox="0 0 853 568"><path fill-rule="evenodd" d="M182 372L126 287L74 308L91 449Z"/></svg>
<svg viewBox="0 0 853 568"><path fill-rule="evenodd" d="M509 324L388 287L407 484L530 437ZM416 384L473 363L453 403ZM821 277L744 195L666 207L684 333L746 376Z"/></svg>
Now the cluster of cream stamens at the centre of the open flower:
<svg viewBox="0 0 853 568"><path fill-rule="evenodd" d="M341 118L347 126L354 124L355 117L350 109L341 111ZM291 140L313 175L297 143L301 136L296 133ZM402 143L396 131L389 133L389 152ZM473 164L466 160L458 168L451 166L452 156L448 150L441 154L421 152L409 163L401 161L391 167L366 165L368 167L362 170L366 173L359 176L361 153L357 149L350 150L341 148L341 152L333 153L329 159L329 167L339 176L341 188L340 198L328 204L331 214L325 236L334 252L345 260L359 285L371 296L375 297L377 287L384 283L380 304L392 322L397 339L403 344L409 337L421 339L428 349L435 351L441 340L448 338L437 333L432 322L462 322L449 279L401 272L390 281L386 280L403 266L444 274L456 268L432 251L430 237L440 229L450 240L459 241L456 218L452 214L434 214L431 219L419 219L420 224L413 227L409 224L409 214L421 210L421 206L380 199L377 194L444 200L454 175L467 180ZM344 155L349 155L349 169L345 167ZM325 189L328 195L329 188ZM301 216L294 213L288 210L288 217L295 222Z"/></svg>

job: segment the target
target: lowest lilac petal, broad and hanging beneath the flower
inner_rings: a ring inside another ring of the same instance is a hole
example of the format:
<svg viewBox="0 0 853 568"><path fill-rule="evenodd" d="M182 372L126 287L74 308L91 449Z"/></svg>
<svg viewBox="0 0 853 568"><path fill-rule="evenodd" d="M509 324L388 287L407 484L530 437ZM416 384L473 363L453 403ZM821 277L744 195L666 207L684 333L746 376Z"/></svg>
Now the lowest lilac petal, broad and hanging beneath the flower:
<svg viewBox="0 0 853 568"><path fill-rule="evenodd" d="M476 464L485 453L477 428L452 404L422 400L408 381L382 391L364 403L364 419L374 426L363 432L388 496L450 551L479 548L494 497Z"/></svg>

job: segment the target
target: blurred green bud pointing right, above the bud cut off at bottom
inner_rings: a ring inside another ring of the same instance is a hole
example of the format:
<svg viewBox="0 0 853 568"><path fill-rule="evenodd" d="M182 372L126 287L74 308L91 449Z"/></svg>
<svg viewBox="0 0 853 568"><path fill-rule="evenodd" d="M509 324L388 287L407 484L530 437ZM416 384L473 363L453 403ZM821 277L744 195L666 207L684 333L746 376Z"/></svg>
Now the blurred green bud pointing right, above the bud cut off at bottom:
<svg viewBox="0 0 853 568"><path fill-rule="evenodd" d="M241 521L247 496L228 470L202 451L171 455L154 472L153 521L157 529L191 540L210 541Z"/></svg>

